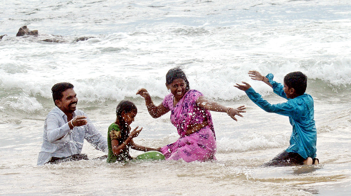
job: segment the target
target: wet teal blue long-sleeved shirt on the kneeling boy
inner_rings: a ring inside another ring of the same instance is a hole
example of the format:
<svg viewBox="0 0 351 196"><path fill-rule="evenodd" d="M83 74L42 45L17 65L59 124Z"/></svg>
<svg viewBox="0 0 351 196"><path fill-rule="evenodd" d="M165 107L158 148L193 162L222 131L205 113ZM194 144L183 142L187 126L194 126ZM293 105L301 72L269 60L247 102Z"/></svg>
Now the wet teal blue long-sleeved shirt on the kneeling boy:
<svg viewBox="0 0 351 196"><path fill-rule="evenodd" d="M273 81L272 73L269 73L266 77L273 86L273 92L287 99L283 90L284 85ZM264 111L289 117L292 133L290 146L286 149L286 152L298 153L304 159L316 157L317 129L314 122L313 99L309 94L304 93L296 98L287 99L286 103L272 105L253 88L246 90L245 93Z"/></svg>

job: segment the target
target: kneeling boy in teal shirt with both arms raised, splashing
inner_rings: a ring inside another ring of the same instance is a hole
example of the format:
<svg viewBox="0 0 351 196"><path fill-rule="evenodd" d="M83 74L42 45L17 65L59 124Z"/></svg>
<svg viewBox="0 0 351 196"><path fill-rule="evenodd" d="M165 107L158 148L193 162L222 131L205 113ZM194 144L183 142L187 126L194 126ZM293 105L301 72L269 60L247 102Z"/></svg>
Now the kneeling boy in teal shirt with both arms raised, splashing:
<svg viewBox="0 0 351 196"><path fill-rule="evenodd" d="M284 85L273 81L273 74L266 77L257 71L249 71L251 79L260 80L273 88L273 92L287 99L286 103L270 104L257 93L250 84L236 84L247 96L266 112L289 117L292 125L290 146L275 156L265 166L311 165L318 164L316 158L317 130L314 122L312 97L305 93L307 77L302 72L291 72L284 77Z"/></svg>

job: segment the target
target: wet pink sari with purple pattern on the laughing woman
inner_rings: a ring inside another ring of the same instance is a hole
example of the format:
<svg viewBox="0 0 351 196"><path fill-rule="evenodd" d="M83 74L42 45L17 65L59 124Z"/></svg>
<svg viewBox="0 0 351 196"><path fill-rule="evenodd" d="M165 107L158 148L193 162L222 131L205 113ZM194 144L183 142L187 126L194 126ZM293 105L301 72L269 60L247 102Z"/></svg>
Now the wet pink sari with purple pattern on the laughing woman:
<svg viewBox="0 0 351 196"><path fill-rule="evenodd" d="M196 105L196 100L203 96L197 90L189 90L183 98L173 106L174 96L168 94L162 105L171 111L171 122L177 127L180 138L173 144L161 148L161 153L166 160L183 159L186 162L216 160L216 136L210 111L201 109ZM207 121L208 126L198 132L185 135L190 124L201 124Z"/></svg>

